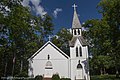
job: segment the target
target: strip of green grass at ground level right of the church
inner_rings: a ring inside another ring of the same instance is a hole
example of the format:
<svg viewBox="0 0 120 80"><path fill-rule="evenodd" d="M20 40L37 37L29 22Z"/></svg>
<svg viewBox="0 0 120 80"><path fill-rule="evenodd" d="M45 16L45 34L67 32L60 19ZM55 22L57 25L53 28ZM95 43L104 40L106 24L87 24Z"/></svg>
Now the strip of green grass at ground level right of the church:
<svg viewBox="0 0 120 80"><path fill-rule="evenodd" d="M120 80L120 78L116 78L115 75L94 75L91 76L91 80Z"/></svg>

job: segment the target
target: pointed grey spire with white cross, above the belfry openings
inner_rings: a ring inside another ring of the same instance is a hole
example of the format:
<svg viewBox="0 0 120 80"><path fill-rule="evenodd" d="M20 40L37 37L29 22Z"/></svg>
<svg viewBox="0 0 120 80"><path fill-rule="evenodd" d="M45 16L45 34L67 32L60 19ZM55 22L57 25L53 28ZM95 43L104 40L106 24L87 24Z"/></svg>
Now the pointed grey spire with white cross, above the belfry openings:
<svg viewBox="0 0 120 80"><path fill-rule="evenodd" d="M74 8L72 28L82 28L80 21L79 21L79 18L78 18L78 15L77 15L77 12L76 12L77 5L74 4L72 7Z"/></svg>

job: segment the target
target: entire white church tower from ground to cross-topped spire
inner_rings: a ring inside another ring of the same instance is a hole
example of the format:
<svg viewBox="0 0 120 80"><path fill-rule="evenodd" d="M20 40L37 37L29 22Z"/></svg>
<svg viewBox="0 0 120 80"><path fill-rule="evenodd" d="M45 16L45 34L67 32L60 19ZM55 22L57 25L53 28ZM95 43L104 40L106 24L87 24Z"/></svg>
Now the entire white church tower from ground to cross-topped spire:
<svg viewBox="0 0 120 80"><path fill-rule="evenodd" d="M72 21L72 39L70 45L71 80L90 80L88 68L88 44L82 36L82 26L79 21L76 7Z"/></svg>

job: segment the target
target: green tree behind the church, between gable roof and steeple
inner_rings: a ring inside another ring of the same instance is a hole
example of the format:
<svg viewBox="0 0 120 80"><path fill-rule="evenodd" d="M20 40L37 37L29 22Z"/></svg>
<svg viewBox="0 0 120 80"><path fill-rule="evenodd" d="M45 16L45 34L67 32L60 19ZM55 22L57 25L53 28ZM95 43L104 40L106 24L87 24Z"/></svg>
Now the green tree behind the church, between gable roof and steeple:
<svg viewBox="0 0 120 80"><path fill-rule="evenodd" d="M58 46L61 50L63 50L67 55L70 55L69 53L69 41L72 38L72 34L69 30L66 28L62 28L56 36L52 38L52 42Z"/></svg>

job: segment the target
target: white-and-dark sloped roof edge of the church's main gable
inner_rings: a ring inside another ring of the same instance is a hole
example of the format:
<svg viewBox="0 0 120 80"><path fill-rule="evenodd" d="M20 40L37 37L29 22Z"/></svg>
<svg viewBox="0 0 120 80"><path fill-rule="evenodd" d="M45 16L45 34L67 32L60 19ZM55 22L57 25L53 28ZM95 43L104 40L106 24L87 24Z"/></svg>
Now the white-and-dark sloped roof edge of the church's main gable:
<svg viewBox="0 0 120 80"><path fill-rule="evenodd" d="M67 59L69 58L69 56L67 54L65 54L62 50L60 50L57 46L55 46L51 41L48 41L37 52L35 52L35 54L33 54L29 59L33 59L40 51L42 51L49 44L52 47L54 47L57 51L59 51L65 58L67 58Z"/></svg>

